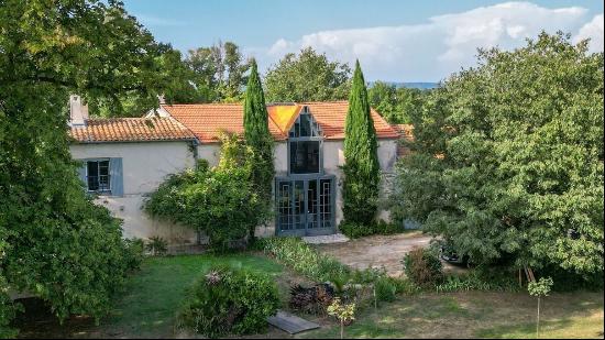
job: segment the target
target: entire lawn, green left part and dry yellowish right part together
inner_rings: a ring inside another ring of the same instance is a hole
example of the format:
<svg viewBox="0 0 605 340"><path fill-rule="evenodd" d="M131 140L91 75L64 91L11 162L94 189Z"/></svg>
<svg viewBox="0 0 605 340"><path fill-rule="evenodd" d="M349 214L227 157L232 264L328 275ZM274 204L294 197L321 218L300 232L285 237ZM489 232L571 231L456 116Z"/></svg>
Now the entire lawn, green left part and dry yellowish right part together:
<svg viewBox="0 0 605 340"><path fill-rule="evenodd" d="M267 273L287 300L293 283L305 282L263 255L188 255L145 259L141 271L117 297L110 316L99 326L73 317L63 326L53 318L20 325L23 338L175 338L188 336L174 329L175 314L190 286L212 264L231 264ZM284 306L286 308L286 306ZM542 304L543 338L603 338L603 292L553 294ZM534 338L536 299L526 293L422 293L383 304L376 314L361 311L345 329L350 338ZM296 338L339 338L327 317L307 319L322 328ZM289 338L273 329L255 338Z"/></svg>

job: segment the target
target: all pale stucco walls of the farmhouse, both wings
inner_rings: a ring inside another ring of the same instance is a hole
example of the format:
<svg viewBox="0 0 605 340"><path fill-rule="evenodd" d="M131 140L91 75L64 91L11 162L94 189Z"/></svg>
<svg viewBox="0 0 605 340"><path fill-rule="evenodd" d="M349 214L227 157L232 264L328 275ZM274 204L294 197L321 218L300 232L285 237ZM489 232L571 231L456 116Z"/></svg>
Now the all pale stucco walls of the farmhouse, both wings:
<svg viewBox="0 0 605 340"><path fill-rule="evenodd" d="M288 172L288 143L275 144L275 171L277 175ZM342 140L323 142L323 172L336 176L336 223L342 220L342 169L344 165L344 143ZM162 237L170 244L195 243L197 234L189 228L151 218L142 206L145 196L154 191L165 178L195 166L195 155L190 142L120 142L82 143L70 145L75 160L121 157L123 164L123 196L99 196L97 204L107 207L116 217L121 218L124 238L148 239ZM197 146L198 158L205 158L211 166L218 164L219 144ZM396 140L380 140L378 160L383 176L388 177L397 157ZM385 182L385 184L387 184ZM383 190L384 193L385 190ZM380 218L388 219L388 211L381 210ZM275 224L270 222L256 230L258 237L275 234Z"/></svg>

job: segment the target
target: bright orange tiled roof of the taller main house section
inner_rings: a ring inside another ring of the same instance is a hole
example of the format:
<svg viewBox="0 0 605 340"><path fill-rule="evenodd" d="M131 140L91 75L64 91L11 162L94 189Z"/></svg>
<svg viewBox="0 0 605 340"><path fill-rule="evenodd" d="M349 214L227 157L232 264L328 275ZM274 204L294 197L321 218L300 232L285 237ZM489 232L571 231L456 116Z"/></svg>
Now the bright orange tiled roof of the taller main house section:
<svg viewBox="0 0 605 340"><path fill-rule="evenodd" d="M287 139L287 133L302 106L309 107L326 139L344 139L344 120L349 102L331 101L267 106L268 128L276 140ZM189 128L201 142L217 142L220 131L243 133L244 130L243 107L239 103L164 105L162 108ZM372 118L380 139L399 138L399 133L374 109Z"/></svg>

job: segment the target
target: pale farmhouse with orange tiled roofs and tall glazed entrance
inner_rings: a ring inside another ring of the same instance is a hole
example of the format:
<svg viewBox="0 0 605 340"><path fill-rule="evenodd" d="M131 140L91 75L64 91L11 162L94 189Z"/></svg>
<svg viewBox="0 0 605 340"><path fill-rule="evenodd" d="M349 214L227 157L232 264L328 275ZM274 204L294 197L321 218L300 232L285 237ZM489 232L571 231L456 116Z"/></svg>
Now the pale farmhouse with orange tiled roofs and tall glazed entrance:
<svg viewBox="0 0 605 340"><path fill-rule="evenodd" d="M258 235L320 235L337 232L342 219L343 141L348 102L268 105L275 140L275 221ZM383 195L397 160L400 130L376 111ZM124 237L160 235L170 243L197 242L197 234L157 221L141 207L169 174L205 158L217 165L221 131L243 133L239 103L165 105L143 118L88 119L86 106L72 98L74 158L84 162L80 177L97 202L124 220ZM387 211L380 217L388 219Z"/></svg>

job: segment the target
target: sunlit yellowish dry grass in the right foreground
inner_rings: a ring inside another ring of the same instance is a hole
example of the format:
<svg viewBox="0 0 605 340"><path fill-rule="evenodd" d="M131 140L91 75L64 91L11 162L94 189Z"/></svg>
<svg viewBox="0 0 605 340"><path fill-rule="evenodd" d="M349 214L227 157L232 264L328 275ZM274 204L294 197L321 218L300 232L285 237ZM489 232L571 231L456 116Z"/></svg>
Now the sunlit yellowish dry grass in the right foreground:
<svg viewBox="0 0 605 340"><path fill-rule="evenodd" d="M554 294L542 306L541 338L603 338L603 292ZM346 338L535 338L536 300L525 293L419 294L356 316ZM339 338L336 323L302 334Z"/></svg>

